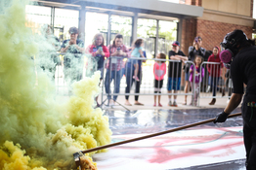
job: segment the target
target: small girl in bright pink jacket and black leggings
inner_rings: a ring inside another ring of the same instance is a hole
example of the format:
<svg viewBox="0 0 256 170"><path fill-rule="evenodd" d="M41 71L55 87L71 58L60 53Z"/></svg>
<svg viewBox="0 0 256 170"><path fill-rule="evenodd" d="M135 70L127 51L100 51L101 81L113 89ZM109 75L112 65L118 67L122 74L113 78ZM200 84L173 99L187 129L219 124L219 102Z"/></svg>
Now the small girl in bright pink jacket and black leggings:
<svg viewBox="0 0 256 170"><path fill-rule="evenodd" d="M156 59L166 59L164 53L158 53ZM163 77L166 74L165 61L155 61L153 64L153 75L154 75L154 93L161 93L161 87L163 85ZM156 95L153 96L154 104L156 106ZM158 95L158 106L162 107L160 103L161 95Z"/></svg>

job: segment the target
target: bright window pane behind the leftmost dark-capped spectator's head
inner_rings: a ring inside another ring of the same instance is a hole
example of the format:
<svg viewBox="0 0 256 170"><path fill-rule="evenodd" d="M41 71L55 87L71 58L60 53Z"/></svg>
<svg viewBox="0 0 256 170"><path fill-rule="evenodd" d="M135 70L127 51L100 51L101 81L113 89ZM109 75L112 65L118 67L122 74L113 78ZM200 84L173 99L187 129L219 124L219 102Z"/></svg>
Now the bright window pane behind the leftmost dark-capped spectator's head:
<svg viewBox="0 0 256 170"><path fill-rule="evenodd" d="M70 27L75 26L78 28L79 11L55 9L55 36L60 38L61 41L69 39L68 30ZM82 36L82 35L80 35Z"/></svg>

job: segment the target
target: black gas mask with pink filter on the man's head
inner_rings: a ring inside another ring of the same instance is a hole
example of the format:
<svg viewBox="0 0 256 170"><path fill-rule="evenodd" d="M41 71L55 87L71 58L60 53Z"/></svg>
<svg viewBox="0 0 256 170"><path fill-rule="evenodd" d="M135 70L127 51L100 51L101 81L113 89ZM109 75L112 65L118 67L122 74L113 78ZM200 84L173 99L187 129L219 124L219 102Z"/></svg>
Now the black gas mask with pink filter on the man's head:
<svg viewBox="0 0 256 170"><path fill-rule="evenodd" d="M231 63L235 55L238 53L239 48L242 47L242 44L247 40L246 35L241 30L230 32L224 37L221 43L220 59L226 68L231 68ZM237 47L237 45L239 45L239 47Z"/></svg>

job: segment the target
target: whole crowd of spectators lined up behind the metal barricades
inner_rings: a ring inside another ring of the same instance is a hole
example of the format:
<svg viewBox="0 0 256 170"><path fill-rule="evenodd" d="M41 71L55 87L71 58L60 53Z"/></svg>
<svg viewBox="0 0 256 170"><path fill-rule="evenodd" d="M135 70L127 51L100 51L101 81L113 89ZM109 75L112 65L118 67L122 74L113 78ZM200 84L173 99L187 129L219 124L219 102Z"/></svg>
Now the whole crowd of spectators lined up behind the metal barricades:
<svg viewBox="0 0 256 170"><path fill-rule="evenodd" d="M79 40L78 29L76 27L69 28L70 38L64 40L61 46L61 52L64 52L64 80L67 85L71 85L74 81L80 81L83 74L83 54L89 54L87 56L86 76L92 76L96 71L101 72L100 85L105 78L105 90L107 93L107 104L114 105L118 93L120 91L120 81L123 75L126 77L125 87L125 105L132 106L129 102L129 93L132 85L135 85L135 93L140 93L140 86L142 83L142 63L146 62L146 51L143 51L144 40L137 39L131 48L126 47L123 44L123 36L116 34L112 44L105 46L105 38L103 34L98 33L94 36L92 44L87 48L84 47L84 42ZM168 56L165 53L156 54L156 60L153 64L152 73L154 75L154 103L153 106L157 106L156 98L158 96L158 106L161 107L160 93L163 85L163 79L166 72L168 72L167 90L168 98L167 102L169 106L177 107L177 95L176 93L181 90L181 78L182 73L185 73L185 101L184 105L187 105L186 95L190 89L194 94L192 96L192 102L190 105L197 105L198 93L200 91L200 84L202 78L205 75L209 76L208 79L208 91L212 91L212 101L210 105L214 105L216 102L216 90L219 89L219 80L221 77L221 71L223 64L219 58L219 48L216 46L213 48L212 54L207 57L206 50L202 48L202 38L195 37L192 46L189 48L188 56L180 50L180 43L174 41L172 43L172 50L168 52ZM108 58L109 57L109 58ZM108 58L108 59L107 59ZM124 58L127 60L124 62ZM138 59L136 59L138 58ZM140 59L139 59L140 58ZM105 59L107 64L105 65ZM166 66L166 59L169 60L168 66ZM192 61L192 62L188 62ZM207 69L201 67L203 61L213 62L207 63ZM193 63L193 64L192 64ZM104 76L104 69L106 69L106 75ZM228 73L227 73L228 74ZM229 75L227 80L230 81ZM113 95L111 95L110 85L113 81ZM232 83L229 84L229 89L232 88ZM225 93L225 90L222 90ZM231 90L230 90L231 91ZM70 91L69 91L70 92ZM70 92L71 93L71 92ZM173 99L172 99L172 94ZM144 105L139 102L139 95L135 95L134 105ZM98 96L96 97L97 106Z"/></svg>

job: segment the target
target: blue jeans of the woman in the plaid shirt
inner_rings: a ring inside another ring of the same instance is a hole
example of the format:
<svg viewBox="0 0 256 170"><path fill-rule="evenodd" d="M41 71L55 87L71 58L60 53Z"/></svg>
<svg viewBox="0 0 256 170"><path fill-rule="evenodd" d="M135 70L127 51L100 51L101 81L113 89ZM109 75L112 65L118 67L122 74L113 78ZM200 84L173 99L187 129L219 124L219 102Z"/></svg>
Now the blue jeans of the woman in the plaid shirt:
<svg viewBox="0 0 256 170"><path fill-rule="evenodd" d="M114 93L119 93L120 91L120 81L122 78L121 75L122 70L116 71L116 70L112 70L110 71L109 69L107 69L107 73L106 73L106 79L105 79L105 88L106 88L106 92L107 92L107 98L110 99L111 98L111 90L110 90L110 84L113 80L113 92ZM117 99L117 95L113 96L113 100L116 101Z"/></svg>

